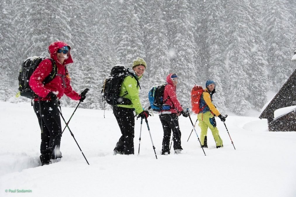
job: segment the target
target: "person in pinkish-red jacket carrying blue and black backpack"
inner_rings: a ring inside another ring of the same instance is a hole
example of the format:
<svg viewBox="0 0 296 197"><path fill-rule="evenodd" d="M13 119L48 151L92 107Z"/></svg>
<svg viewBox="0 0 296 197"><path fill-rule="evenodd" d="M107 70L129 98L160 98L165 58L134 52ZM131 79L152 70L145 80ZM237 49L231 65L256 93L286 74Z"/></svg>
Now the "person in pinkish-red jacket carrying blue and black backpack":
<svg viewBox="0 0 296 197"><path fill-rule="evenodd" d="M159 114L160 122L163 126L163 155L170 154L170 134L173 131L174 151L175 154L181 153L183 148L181 147L181 131L179 127L178 116L181 114L184 117L188 117L189 113L184 111L176 96L176 87L178 83L177 74L170 73L166 82L163 93L164 105L170 106L168 110L161 110Z"/></svg>

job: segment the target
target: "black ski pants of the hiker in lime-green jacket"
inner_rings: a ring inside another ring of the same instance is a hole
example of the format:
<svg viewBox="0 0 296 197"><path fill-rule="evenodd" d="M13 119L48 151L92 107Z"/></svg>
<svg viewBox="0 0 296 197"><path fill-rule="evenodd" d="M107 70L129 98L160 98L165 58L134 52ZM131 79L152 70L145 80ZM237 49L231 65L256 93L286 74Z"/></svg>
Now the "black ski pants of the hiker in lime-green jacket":
<svg viewBox="0 0 296 197"><path fill-rule="evenodd" d="M122 134L114 150L125 155L134 154L133 138L135 137L135 118L133 109L114 106L113 113Z"/></svg>

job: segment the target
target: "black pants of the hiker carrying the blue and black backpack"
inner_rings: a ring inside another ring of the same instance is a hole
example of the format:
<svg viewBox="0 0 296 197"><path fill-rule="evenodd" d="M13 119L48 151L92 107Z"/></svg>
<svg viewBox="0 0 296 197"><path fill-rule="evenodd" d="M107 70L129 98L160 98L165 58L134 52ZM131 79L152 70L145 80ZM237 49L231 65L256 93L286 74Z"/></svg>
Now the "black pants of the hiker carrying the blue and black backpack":
<svg viewBox="0 0 296 197"><path fill-rule="evenodd" d="M170 134L173 131L174 150L181 147L181 131L177 114L160 114L159 119L163 125L163 147L162 154L170 154Z"/></svg>

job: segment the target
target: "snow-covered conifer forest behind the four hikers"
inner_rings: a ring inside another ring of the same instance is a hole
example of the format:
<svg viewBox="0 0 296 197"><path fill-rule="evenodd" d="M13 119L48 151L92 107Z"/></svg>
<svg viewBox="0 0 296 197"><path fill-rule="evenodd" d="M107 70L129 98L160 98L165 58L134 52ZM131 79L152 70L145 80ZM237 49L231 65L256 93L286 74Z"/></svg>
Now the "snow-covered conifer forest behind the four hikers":
<svg viewBox="0 0 296 197"><path fill-rule="evenodd" d="M72 86L89 88L81 107L104 109L101 88L115 64L131 67L142 57L147 70L141 99L170 72L179 76L177 95L190 106L194 83L216 82L214 104L244 115L260 110L268 91L278 91L291 73L296 49L293 0L0 0L0 100L18 102L20 64L49 56L48 46L65 41L74 63ZM63 106L76 102L64 97Z"/></svg>

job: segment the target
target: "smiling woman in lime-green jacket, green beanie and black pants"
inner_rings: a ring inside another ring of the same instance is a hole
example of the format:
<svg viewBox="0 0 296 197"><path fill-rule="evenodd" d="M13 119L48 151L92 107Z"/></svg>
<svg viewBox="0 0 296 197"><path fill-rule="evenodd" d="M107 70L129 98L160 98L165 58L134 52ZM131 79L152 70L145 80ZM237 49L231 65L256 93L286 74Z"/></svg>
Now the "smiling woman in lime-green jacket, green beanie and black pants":
<svg viewBox="0 0 296 197"><path fill-rule="evenodd" d="M132 76L127 76L124 78L121 84L121 90L119 96L131 100L130 105L113 106L113 113L118 122L121 131L121 137L119 138L116 146L114 148L114 154L134 154L133 138L134 138L134 126L135 126L135 116L138 115L141 118L148 118L149 112L143 110L140 97L139 89L141 80L145 69L147 67L146 62L142 58L137 58L133 61L133 73ZM127 94L126 94L127 93ZM125 95L125 96L124 96Z"/></svg>

